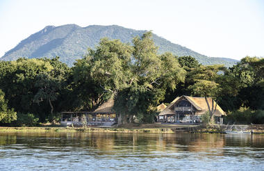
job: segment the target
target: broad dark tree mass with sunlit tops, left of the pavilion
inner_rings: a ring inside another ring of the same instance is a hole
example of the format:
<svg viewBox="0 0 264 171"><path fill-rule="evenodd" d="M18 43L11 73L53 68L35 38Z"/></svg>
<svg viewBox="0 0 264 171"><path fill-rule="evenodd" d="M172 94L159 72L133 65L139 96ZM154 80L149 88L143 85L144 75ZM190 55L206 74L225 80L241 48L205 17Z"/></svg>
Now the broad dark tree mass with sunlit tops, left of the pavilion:
<svg viewBox="0 0 264 171"><path fill-rule="evenodd" d="M67 65L61 63L58 57L2 61L0 81L3 84L0 88L6 93L8 106L19 113L34 113L40 117L41 122L44 122L51 111L49 99L51 101L55 100L55 97L63 99L58 95L58 90L64 93L67 89L65 77L68 73ZM60 102L61 104L63 103ZM54 111L61 109L54 107Z"/></svg>

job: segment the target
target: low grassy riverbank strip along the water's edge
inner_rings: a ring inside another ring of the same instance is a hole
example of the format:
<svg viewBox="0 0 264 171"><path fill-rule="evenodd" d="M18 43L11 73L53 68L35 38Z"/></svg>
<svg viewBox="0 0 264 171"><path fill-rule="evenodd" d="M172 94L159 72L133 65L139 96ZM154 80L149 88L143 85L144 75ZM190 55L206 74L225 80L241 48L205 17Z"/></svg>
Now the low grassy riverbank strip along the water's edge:
<svg viewBox="0 0 264 171"><path fill-rule="evenodd" d="M264 133L264 125L236 125L233 130ZM44 132L97 132L97 133L224 133L226 125L188 125L188 124L126 124L121 127L0 127L0 133L44 133Z"/></svg>

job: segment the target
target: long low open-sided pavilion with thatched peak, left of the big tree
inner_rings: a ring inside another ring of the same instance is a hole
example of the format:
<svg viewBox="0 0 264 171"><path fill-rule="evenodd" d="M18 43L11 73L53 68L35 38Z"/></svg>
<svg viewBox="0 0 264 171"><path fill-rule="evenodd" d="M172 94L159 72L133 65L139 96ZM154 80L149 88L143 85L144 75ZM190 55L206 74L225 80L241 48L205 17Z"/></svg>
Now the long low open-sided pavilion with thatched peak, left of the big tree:
<svg viewBox="0 0 264 171"><path fill-rule="evenodd" d="M117 114L113 111L114 100L109 99L93 112L62 112L63 126L112 126L117 123Z"/></svg>

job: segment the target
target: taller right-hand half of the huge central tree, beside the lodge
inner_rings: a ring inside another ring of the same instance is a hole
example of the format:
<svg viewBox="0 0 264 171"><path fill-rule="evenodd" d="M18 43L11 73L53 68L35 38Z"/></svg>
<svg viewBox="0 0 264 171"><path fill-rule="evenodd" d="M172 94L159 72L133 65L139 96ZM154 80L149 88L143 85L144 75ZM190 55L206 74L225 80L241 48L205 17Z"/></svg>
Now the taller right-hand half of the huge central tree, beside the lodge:
<svg viewBox="0 0 264 171"><path fill-rule="evenodd" d="M185 72L172 54L157 54L151 32L133 39L133 63L130 87L124 95L117 96L115 110L131 117L135 115L143 122L153 122L156 105L164 99L167 88L176 88L185 78ZM125 112L124 112L125 111ZM121 115L122 116L122 115Z"/></svg>

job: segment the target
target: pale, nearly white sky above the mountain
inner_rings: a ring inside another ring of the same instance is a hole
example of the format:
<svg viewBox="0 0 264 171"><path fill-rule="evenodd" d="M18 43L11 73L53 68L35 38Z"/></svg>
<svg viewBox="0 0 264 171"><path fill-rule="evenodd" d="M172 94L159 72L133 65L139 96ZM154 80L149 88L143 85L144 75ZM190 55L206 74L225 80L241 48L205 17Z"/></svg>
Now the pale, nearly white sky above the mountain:
<svg viewBox="0 0 264 171"><path fill-rule="evenodd" d="M0 57L45 26L153 31L199 54L264 56L263 0L0 0Z"/></svg>

